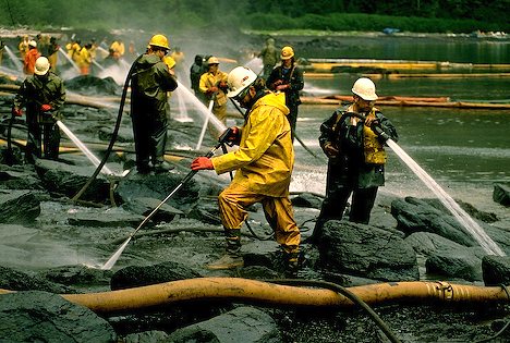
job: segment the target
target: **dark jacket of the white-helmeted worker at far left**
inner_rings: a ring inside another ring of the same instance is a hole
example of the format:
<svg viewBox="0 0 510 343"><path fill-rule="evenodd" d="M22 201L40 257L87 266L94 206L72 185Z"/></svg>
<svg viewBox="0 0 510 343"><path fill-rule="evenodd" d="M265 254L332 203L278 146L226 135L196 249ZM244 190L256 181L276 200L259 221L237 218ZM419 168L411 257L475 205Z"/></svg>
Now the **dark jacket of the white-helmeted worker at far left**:
<svg viewBox="0 0 510 343"><path fill-rule="evenodd" d="M40 114L40 106L45 103L51 105L54 115L60 115L64 102L65 88L53 73L48 73L47 77L27 76L14 98L15 108L26 108L27 119Z"/></svg>

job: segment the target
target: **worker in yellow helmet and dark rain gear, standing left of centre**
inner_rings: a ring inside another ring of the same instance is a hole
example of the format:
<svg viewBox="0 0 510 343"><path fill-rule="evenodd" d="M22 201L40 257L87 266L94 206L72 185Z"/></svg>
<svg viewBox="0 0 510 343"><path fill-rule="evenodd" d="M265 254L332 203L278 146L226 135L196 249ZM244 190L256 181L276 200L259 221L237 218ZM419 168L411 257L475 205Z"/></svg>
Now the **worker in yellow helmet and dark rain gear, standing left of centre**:
<svg viewBox="0 0 510 343"><path fill-rule="evenodd" d="M171 166L165 161L169 118L168 91L178 87L163 58L170 49L167 37L150 38L147 52L133 65L131 83L131 119L136 150L136 169L147 174L167 172Z"/></svg>

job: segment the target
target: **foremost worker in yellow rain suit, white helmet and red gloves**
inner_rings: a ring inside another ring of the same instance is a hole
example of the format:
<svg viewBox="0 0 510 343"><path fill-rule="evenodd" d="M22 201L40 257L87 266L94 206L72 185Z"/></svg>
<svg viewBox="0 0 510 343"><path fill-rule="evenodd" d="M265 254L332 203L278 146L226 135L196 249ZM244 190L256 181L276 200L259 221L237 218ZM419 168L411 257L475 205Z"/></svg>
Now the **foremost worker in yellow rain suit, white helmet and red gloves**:
<svg viewBox="0 0 510 343"><path fill-rule="evenodd" d="M301 234L289 199L294 150L284 95L267 91L264 81L244 66L230 72L228 86L228 97L247 109L243 127L232 127L228 137L239 144L239 149L210 159L198 157L191 166L193 170L214 169L218 174L235 170L232 183L218 197L227 254L208 267L243 265L240 229L247 218L246 208L260 203L287 267L295 271Z"/></svg>

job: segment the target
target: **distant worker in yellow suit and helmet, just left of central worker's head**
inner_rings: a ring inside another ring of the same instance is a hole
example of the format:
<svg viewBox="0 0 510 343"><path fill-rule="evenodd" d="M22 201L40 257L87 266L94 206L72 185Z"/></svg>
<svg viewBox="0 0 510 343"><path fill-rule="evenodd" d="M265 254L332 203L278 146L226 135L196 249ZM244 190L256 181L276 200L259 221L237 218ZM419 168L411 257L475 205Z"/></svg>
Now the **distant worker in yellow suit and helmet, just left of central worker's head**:
<svg viewBox="0 0 510 343"><path fill-rule="evenodd" d="M212 113L223 124L227 123L227 77L226 72L219 70L218 58L211 56L207 60L208 71L201 76L199 89L206 95L208 103L214 102ZM218 132L214 125L209 125L209 130L216 137L219 137L221 132Z"/></svg>

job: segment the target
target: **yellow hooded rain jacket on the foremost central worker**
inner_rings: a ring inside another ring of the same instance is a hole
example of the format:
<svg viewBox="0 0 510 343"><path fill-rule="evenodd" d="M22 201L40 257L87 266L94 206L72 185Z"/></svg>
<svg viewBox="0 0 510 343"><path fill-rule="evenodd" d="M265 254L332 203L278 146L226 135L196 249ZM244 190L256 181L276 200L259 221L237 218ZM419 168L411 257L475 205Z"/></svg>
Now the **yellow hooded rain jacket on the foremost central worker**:
<svg viewBox="0 0 510 343"><path fill-rule="evenodd" d="M283 93L258 99L241 130L239 149L211 158L218 174L234 171L232 183L271 196L289 195L294 149Z"/></svg>

